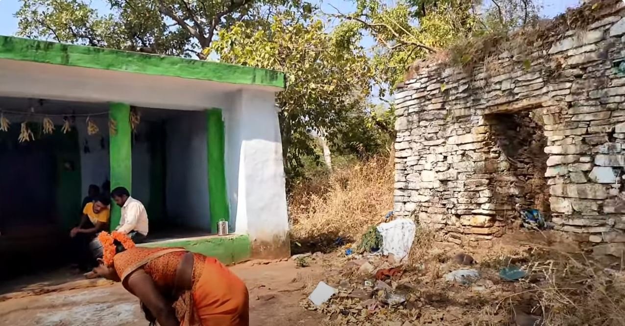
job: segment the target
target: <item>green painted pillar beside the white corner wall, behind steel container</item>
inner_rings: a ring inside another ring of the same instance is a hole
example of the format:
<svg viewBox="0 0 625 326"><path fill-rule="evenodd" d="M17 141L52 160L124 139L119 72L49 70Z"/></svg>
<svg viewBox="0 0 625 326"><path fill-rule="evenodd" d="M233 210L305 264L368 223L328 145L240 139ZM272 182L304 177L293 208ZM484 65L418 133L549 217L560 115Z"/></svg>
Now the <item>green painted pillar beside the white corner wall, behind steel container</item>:
<svg viewBox="0 0 625 326"><path fill-rule="evenodd" d="M208 146L208 194L211 212L211 232L217 232L219 220L229 220L230 213L226 192L226 168L224 163L225 141L224 121L221 109L206 111Z"/></svg>

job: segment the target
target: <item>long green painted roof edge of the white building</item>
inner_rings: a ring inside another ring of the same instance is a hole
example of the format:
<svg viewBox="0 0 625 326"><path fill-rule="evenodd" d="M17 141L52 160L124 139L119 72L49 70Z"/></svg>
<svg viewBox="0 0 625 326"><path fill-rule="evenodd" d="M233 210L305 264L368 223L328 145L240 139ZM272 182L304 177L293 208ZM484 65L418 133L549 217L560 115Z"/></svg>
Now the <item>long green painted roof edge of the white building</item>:
<svg viewBox="0 0 625 326"><path fill-rule="evenodd" d="M283 72L221 62L159 56L0 36L0 59L285 88Z"/></svg>

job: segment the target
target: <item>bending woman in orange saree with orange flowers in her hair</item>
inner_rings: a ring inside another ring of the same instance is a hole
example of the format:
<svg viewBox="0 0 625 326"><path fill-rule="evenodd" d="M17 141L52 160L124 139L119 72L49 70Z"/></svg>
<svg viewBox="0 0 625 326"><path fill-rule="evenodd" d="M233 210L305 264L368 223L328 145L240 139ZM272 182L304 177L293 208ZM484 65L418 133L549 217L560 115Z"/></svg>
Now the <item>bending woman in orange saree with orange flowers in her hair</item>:
<svg viewBox="0 0 625 326"><path fill-rule="evenodd" d="M141 300L151 325L247 326L245 284L212 257L178 248L140 248L119 232L101 232L92 244L93 271Z"/></svg>

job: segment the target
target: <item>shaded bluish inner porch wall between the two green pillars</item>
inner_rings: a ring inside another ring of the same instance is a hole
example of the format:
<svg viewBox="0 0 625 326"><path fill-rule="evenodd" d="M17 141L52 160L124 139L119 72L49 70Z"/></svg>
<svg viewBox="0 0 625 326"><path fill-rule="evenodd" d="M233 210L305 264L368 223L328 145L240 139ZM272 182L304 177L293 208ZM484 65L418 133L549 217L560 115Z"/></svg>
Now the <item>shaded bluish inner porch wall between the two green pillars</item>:
<svg viewBox="0 0 625 326"><path fill-rule="evenodd" d="M166 122L166 200L169 220L209 230L205 114L180 112Z"/></svg>

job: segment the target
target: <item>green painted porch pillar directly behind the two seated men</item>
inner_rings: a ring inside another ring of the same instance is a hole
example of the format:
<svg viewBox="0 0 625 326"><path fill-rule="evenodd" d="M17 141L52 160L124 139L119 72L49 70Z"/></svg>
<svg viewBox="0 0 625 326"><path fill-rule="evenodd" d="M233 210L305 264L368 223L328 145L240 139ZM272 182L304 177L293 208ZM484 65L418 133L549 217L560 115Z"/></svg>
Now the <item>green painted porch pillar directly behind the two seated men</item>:
<svg viewBox="0 0 625 326"><path fill-rule="evenodd" d="M111 103L109 119L116 122L117 131L110 134L109 160L111 161L111 190L126 187L131 194L133 182L133 149L130 127L130 106L124 103ZM119 225L121 210L111 203L111 230Z"/></svg>

